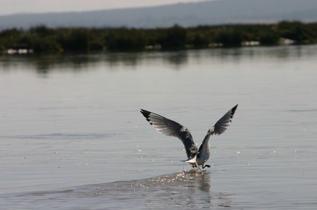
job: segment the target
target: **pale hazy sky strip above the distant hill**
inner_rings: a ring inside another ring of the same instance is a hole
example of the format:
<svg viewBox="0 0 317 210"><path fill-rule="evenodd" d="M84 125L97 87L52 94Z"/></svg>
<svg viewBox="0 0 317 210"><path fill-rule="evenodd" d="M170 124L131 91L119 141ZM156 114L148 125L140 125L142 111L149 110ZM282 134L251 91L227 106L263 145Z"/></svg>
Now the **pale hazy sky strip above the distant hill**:
<svg viewBox="0 0 317 210"><path fill-rule="evenodd" d="M157 6L203 0L0 0L0 15Z"/></svg>

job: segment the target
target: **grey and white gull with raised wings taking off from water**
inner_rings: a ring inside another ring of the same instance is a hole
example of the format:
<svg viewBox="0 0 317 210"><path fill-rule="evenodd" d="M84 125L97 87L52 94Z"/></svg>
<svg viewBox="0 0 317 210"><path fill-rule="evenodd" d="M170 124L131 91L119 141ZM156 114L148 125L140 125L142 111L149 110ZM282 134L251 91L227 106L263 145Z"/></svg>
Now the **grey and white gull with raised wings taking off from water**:
<svg viewBox="0 0 317 210"><path fill-rule="evenodd" d="M199 148L195 145L193 137L191 136L191 132L189 132L187 127L144 109L141 109L140 112L159 133L162 133L165 136L177 137L183 142L188 159L181 161L190 163L193 168L197 167L197 165L201 165L204 169L205 167L210 168L210 165L204 165L209 159L210 155L210 136L213 134L220 135L230 127L231 120L237 106L238 104L234 108L230 109L225 115L223 115L223 117L220 118L216 124L208 130L203 143Z"/></svg>

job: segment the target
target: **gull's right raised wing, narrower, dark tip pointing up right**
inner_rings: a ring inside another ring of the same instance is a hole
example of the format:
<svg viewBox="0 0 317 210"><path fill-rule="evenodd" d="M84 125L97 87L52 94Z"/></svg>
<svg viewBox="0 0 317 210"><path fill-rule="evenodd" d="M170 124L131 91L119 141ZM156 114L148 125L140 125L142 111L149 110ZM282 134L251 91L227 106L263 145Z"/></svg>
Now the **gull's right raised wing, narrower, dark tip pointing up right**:
<svg viewBox="0 0 317 210"><path fill-rule="evenodd" d="M203 152L206 150L204 150L203 148L206 146L207 143L209 143L209 138L211 135L213 134L220 135L221 133L225 132L230 127L231 120L232 120L233 114L235 114L237 106L238 104L234 108L230 109L225 115L223 115L223 117L220 118L216 122L216 124L208 130L203 140L203 143L199 147L198 157L204 156Z"/></svg>

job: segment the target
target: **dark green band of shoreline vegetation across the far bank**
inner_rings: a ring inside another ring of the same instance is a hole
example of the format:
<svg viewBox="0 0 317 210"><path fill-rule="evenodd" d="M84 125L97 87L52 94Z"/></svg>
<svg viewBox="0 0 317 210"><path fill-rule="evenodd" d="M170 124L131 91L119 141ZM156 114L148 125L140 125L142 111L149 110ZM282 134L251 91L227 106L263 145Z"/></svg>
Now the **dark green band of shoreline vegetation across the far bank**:
<svg viewBox="0 0 317 210"><path fill-rule="evenodd" d="M143 50L208 46L241 46L255 41L278 45L281 38L294 44L317 43L317 23L279 22L183 28L47 28L9 29L0 32L0 50L33 49L34 52L89 50ZM221 43L221 44L219 44Z"/></svg>

